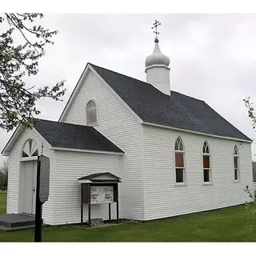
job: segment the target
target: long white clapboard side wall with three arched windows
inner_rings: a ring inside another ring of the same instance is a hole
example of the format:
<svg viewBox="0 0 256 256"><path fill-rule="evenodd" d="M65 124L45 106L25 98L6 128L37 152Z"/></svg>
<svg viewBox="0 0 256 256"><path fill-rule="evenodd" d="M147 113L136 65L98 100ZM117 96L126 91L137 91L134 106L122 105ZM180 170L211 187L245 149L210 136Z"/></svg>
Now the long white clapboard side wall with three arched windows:
<svg viewBox="0 0 256 256"><path fill-rule="evenodd" d="M234 206L248 199L252 187L250 143L143 126L146 220ZM185 146L186 186L175 186L174 143ZM202 146L209 143L213 184L202 182ZM241 182L234 183L234 145L238 146Z"/></svg>

